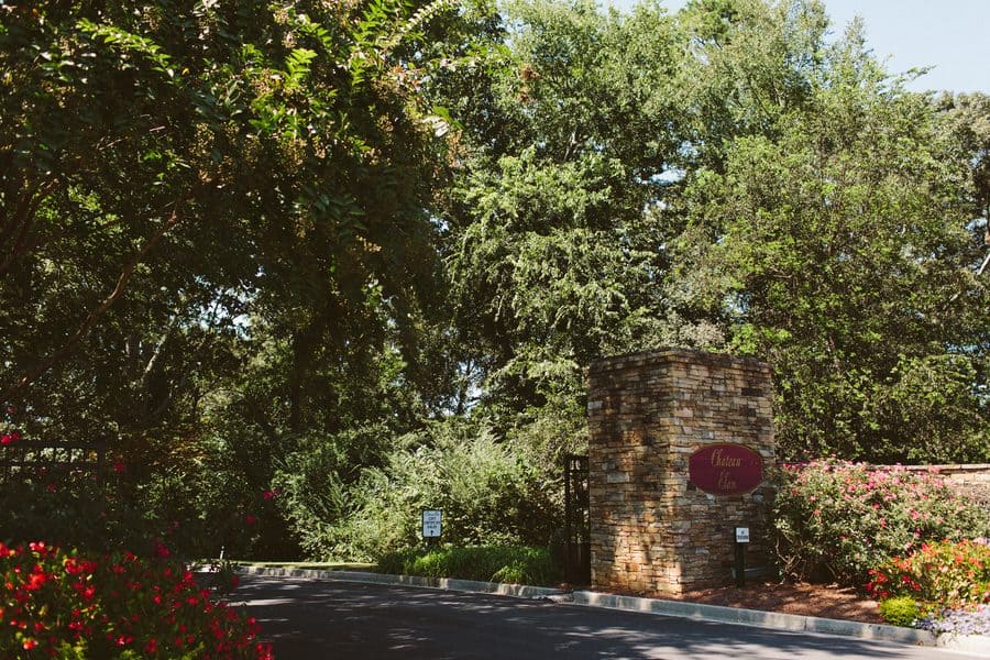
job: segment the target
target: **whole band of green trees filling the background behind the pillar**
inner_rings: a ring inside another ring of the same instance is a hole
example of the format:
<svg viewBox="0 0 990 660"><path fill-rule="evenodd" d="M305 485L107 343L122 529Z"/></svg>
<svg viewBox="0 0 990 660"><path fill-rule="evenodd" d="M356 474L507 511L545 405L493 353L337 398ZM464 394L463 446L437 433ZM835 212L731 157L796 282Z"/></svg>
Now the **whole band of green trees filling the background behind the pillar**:
<svg viewBox="0 0 990 660"><path fill-rule="evenodd" d="M770 362L782 459L990 461L990 99L816 0L7 4L0 87L0 425L162 519L381 550L422 457L550 510L666 345Z"/></svg>

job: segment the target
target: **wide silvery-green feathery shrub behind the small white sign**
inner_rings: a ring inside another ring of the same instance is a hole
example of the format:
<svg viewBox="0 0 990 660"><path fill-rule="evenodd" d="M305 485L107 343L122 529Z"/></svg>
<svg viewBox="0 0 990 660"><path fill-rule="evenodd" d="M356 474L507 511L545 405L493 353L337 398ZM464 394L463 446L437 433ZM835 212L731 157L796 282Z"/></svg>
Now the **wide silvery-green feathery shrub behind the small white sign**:
<svg viewBox="0 0 990 660"><path fill-rule="evenodd" d="M384 466L351 486L334 464L276 482L316 559L375 560L415 548L426 508L442 509L443 539L458 546L544 546L560 527L559 482L474 422L448 420L402 438Z"/></svg>

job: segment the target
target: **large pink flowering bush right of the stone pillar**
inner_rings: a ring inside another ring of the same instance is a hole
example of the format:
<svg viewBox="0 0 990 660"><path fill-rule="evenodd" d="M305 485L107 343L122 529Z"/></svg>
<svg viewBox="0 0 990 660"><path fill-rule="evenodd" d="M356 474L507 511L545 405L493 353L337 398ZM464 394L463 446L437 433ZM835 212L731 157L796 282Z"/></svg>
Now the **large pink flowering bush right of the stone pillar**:
<svg viewBox="0 0 990 660"><path fill-rule="evenodd" d="M821 460L784 466L777 487L777 554L793 579L860 586L870 569L922 543L990 534L986 512L934 472Z"/></svg>

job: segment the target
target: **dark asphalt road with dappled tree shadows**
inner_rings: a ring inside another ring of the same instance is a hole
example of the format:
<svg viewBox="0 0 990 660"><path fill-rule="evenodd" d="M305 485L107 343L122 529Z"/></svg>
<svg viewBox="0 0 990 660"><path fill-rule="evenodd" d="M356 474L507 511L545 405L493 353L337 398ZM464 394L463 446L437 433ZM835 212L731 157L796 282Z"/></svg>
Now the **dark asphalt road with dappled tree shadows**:
<svg viewBox="0 0 990 660"><path fill-rule="evenodd" d="M934 648L375 584L245 576L230 600L258 619L277 660L966 658Z"/></svg>

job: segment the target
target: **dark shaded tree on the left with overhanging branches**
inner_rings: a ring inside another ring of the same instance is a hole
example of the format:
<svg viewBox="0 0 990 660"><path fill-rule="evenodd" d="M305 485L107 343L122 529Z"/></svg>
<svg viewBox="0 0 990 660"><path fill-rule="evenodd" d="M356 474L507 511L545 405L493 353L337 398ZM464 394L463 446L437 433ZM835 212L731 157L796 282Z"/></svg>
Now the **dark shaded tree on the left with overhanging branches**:
<svg viewBox="0 0 990 660"><path fill-rule="evenodd" d="M244 314L290 338L290 387L318 339L405 327L433 270L437 143L397 52L421 7L6 11L3 398L168 407Z"/></svg>

